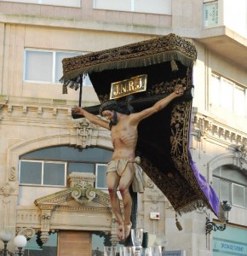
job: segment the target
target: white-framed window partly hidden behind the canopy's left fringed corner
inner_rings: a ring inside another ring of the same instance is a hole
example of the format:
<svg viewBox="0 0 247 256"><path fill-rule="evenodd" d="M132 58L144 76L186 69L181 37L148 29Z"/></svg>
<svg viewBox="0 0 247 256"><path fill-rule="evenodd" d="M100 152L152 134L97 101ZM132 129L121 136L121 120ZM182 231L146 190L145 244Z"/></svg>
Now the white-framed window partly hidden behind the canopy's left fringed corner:
<svg viewBox="0 0 247 256"><path fill-rule="evenodd" d="M24 80L27 82L58 84L60 83L59 80L63 75L62 60L64 58L71 58L83 54L75 52L26 49ZM83 79L83 85L92 85L89 76L85 76Z"/></svg>

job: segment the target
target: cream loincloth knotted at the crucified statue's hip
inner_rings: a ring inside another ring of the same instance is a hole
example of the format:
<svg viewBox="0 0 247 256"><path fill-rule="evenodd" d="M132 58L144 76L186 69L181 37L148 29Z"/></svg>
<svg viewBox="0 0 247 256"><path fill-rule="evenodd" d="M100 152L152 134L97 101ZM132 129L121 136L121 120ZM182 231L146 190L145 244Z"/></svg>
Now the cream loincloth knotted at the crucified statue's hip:
<svg viewBox="0 0 247 256"><path fill-rule="evenodd" d="M124 170L126 169L126 166L129 163L133 163L135 168L135 176L132 181L132 189L134 192L143 193L144 178L143 178L143 171L141 169L141 166L139 166L141 163L141 158L139 156L136 156L135 160L128 160L128 159L111 160L107 165L106 174L108 172L117 172L118 175L121 177Z"/></svg>

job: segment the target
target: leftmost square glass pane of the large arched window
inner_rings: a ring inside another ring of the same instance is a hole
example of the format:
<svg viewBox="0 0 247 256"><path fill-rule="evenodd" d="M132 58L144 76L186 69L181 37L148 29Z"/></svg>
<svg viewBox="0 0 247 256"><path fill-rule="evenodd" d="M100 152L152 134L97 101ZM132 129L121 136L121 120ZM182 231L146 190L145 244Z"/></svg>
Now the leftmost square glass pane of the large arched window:
<svg viewBox="0 0 247 256"><path fill-rule="evenodd" d="M20 162L20 183L41 184L42 162Z"/></svg>

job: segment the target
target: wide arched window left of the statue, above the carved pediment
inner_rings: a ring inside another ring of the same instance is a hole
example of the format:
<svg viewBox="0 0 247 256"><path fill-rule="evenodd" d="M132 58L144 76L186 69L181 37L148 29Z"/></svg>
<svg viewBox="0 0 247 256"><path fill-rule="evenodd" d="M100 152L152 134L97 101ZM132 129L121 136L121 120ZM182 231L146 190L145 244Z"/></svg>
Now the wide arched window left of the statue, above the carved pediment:
<svg viewBox="0 0 247 256"><path fill-rule="evenodd" d="M112 151L103 148L43 148L20 156L20 185L66 187L72 172L96 176L95 187L106 189L106 165Z"/></svg>

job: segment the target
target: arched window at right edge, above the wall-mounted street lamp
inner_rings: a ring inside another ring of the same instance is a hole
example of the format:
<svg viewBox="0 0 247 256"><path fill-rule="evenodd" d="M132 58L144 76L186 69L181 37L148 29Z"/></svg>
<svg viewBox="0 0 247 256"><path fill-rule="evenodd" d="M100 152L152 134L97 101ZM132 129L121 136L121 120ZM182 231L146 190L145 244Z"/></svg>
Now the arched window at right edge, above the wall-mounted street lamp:
<svg viewBox="0 0 247 256"><path fill-rule="evenodd" d="M213 188L221 201L247 208L247 173L236 166L220 166L213 171Z"/></svg>

